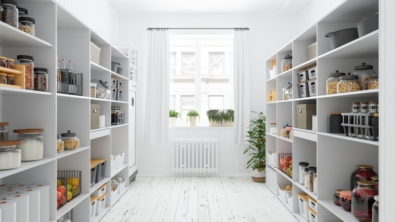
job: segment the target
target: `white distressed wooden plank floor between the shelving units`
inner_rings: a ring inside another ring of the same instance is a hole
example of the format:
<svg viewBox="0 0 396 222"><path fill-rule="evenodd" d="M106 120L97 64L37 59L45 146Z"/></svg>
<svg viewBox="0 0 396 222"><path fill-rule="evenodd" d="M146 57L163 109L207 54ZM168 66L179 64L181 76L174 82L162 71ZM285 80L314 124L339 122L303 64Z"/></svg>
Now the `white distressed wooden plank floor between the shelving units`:
<svg viewBox="0 0 396 222"><path fill-rule="evenodd" d="M298 221L251 177L138 176L101 222Z"/></svg>

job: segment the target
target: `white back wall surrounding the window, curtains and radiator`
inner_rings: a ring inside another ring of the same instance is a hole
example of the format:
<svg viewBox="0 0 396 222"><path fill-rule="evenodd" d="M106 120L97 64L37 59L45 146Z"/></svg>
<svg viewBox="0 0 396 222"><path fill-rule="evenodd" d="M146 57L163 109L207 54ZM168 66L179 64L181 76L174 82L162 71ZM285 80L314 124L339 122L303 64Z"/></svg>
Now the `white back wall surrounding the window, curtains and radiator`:
<svg viewBox="0 0 396 222"><path fill-rule="evenodd" d="M145 73L148 27L249 27L250 28L250 109L265 112L265 60L293 38L296 15L211 15L211 14L145 14L120 17L120 42L132 43L138 53L137 93L137 156L140 173L166 173L170 168L169 145L143 143ZM287 25L285 25L287 24ZM271 44L269 44L271 43ZM233 131L225 128L173 128L170 137L216 137L220 140L221 173L236 175L250 173L237 169L237 162L246 163L243 150L246 144L234 144ZM166 169L163 171L163 169Z"/></svg>

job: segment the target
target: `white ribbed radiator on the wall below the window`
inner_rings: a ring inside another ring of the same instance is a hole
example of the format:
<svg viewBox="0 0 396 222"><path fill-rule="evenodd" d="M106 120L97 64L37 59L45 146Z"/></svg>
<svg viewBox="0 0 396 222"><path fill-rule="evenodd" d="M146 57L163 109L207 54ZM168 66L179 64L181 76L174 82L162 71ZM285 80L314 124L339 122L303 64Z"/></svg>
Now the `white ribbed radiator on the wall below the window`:
<svg viewBox="0 0 396 222"><path fill-rule="evenodd" d="M172 142L172 172L217 173L217 138L175 138Z"/></svg>

